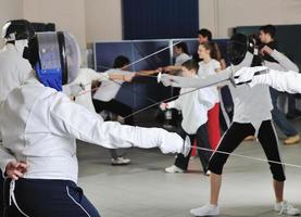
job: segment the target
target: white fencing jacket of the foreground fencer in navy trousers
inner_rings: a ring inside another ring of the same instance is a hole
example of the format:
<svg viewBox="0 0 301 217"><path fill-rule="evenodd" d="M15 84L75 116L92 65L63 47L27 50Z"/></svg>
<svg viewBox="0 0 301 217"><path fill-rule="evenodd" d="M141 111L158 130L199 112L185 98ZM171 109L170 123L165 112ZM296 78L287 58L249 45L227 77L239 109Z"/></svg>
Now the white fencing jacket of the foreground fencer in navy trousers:
<svg viewBox="0 0 301 217"><path fill-rule="evenodd" d="M76 139L115 148L154 148L179 153L184 141L160 128L120 125L103 119L71 101L64 93L42 86L30 76L0 104L0 166L24 161L24 178L77 181Z"/></svg>

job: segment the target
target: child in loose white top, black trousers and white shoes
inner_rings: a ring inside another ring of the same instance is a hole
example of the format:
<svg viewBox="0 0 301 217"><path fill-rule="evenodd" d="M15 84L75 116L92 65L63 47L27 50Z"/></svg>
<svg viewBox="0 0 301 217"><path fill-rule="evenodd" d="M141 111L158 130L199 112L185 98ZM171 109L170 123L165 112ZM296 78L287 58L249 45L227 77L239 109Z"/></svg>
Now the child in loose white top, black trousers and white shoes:
<svg viewBox="0 0 301 217"><path fill-rule="evenodd" d="M181 67L184 77L197 77L198 63L190 60L183 64ZM183 122L179 135L190 138L192 143L197 139L197 145L205 149L211 149L208 138L208 111L214 105L214 93L212 88L204 88L193 91L193 88L181 88L180 97L168 103L162 103L161 108L176 108L181 111ZM191 92L192 91L192 92ZM199 156L203 166L203 171L206 174L208 163L211 152L200 151ZM183 173L187 170L189 158L183 154L178 154L173 166L165 168L166 173Z"/></svg>

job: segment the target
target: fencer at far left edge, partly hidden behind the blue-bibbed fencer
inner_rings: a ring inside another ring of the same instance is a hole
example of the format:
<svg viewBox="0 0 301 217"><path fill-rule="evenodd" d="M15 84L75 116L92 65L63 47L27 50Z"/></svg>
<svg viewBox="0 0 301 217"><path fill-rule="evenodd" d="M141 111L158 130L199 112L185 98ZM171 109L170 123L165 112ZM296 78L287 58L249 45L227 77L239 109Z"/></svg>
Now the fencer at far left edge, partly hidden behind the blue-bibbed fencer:
<svg viewBox="0 0 301 217"><path fill-rule="evenodd" d="M34 27L26 20L12 20L3 25L4 47L0 51L0 102L29 76L30 64L22 55L28 39L34 35ZM3 179L0 176L0 216L3 216L2 188Z"/></svg>

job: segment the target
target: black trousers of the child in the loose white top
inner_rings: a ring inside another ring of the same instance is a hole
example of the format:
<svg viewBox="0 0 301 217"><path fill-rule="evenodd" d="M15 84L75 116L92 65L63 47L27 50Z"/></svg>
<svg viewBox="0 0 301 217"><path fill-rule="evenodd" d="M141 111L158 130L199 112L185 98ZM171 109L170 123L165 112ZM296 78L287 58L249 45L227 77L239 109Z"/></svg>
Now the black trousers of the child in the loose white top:
<svg viewBox="0 0 301 217"><path fill-rule="evenodd" d="M184 139L186 138L186 136L189 136L191 144L195 141L195 139L197 139L197 146L205 148L209 150L211 149L211 145L210 145L209 139L208 139L206 123L199 127L196 135L187 135L187 132L185 132L185 130L183 128L180 128L180 131L178 133ZM191 154L191 151L189 152L189 154L186 157L183 154L178 154L176 157L176 161L175 161L175 166L181 168L183 170L187 170L190 154ZM203 166L203 170L204 170L204 173L206 173L209 159L210 159L212 153L209 151L198 149L198 154L199 154L201 164Z"/></svg>

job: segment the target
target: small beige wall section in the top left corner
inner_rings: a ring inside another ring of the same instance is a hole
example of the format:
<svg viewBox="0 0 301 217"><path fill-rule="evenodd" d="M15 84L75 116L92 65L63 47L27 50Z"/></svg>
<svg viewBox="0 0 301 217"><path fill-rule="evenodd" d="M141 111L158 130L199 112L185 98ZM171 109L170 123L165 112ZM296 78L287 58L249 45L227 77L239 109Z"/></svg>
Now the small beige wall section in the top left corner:
<svg viewBox="0 0 301 217"><path fill-rule="evenodd" d="M0 0L0 28L9 20L23 18L23 0ZM4 40L0 38L0 48Z"/></svg>

